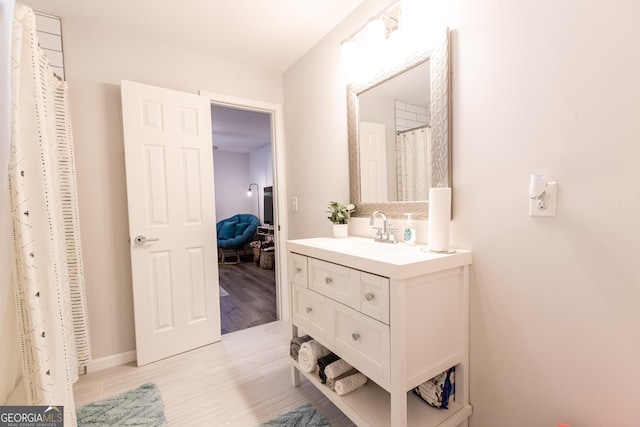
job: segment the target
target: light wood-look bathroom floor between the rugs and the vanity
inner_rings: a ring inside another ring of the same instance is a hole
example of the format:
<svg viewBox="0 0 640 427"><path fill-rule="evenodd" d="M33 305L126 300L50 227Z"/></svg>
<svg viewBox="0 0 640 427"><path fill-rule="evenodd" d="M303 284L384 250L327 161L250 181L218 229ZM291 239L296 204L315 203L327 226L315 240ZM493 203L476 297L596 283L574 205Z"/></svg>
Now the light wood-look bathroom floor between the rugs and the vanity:
<svg viewBox="0 0 640 427"><path fill-rule="evenodd" d="M74 386L76 406L155 383L170 426L255 426L304 403L333 427L353 426L306 379L291 385L290 326L276 321L143 367L89 373Z"/></svg>

